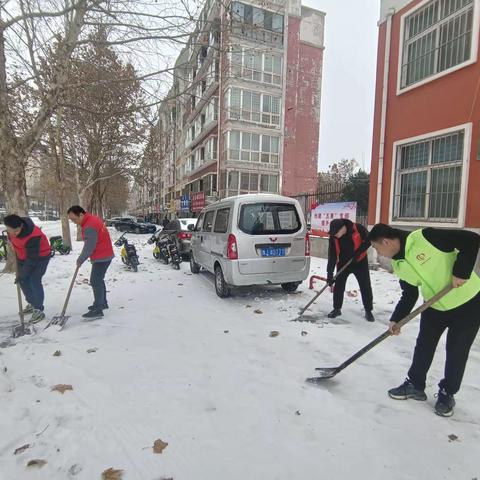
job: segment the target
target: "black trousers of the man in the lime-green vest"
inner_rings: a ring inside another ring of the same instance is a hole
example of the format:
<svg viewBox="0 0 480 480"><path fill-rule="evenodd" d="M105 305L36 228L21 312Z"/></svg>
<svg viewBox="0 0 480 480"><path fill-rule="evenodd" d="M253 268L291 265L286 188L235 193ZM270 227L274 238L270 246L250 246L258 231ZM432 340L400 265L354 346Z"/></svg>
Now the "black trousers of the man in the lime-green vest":
<svg viewBox="0 0 480 480"><path fill-rule="evenodd" d="M460 390L470 347L480 327L480 294L453 310L442 312L429 308L422 313L420 332L408 378L415 387L425 389L427 372L438 341L447 330L447 356L444 378L439 387L454 395Z"/></svg>

